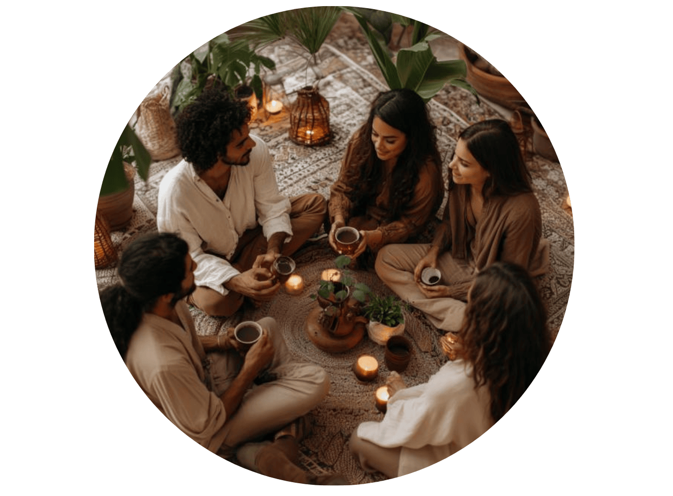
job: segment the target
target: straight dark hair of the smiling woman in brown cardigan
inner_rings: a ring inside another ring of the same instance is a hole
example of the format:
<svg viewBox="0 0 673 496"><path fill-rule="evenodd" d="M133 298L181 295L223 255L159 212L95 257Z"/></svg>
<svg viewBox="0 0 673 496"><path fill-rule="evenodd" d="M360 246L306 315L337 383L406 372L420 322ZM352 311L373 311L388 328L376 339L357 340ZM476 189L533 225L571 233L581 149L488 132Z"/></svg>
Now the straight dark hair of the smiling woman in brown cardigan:
<svg viewBox="0 0 673 496"><path fill-rule="evenodd" d="M462 139L479 165L490 173L483 189L484 198L512 196L532 191L530 172L524 163L516 135L502 119L490 119L462 130ZM449 175L449 189L454 185Z"/></svg>

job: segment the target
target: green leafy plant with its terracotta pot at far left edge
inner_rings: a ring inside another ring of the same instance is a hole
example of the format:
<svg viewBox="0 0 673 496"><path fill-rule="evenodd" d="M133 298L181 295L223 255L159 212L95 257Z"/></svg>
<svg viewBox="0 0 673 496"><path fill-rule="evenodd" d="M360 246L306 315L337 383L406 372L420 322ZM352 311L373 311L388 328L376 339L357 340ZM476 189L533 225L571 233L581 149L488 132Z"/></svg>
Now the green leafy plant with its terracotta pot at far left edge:
<svg viewBox="0 0 673 496"><path fill-rule="evenodd" d="M151 161L149 152L127 123L112 149L98 194L97 210L102 212L112 231L131 222L135 193L133 177L137 171L147 181Z"/></svg>

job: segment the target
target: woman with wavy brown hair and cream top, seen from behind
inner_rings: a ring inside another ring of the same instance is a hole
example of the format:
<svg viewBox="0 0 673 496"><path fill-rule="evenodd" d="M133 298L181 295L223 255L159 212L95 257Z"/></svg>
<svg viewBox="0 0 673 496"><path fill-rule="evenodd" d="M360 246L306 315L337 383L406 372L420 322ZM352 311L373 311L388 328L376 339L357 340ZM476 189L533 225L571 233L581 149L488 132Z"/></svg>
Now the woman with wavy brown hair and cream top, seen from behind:
<svg viewBox="0 0 673 496"><path fill-rule="evenodd" d="M351 436L361 466L400 477L476 440L520 399L551 347L546 311L528 271L496 262L468 292L458 357L425 384L388 377L388 410Z"/></svg>

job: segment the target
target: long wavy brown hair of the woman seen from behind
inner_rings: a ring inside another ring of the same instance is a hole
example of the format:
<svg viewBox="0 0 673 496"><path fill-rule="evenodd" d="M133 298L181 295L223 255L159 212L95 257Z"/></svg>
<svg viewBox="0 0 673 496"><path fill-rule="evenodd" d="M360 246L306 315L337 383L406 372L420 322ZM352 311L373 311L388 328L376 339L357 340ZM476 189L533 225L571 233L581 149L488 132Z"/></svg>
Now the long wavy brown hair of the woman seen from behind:
<svg viewBox="0 0 673 496"><path fill-rule="evenodd" d="M481 271L460 335L476 386L491 392L491 417L497 422L530 386L551 348L546 311L528 272L503 261Z"/></svg>

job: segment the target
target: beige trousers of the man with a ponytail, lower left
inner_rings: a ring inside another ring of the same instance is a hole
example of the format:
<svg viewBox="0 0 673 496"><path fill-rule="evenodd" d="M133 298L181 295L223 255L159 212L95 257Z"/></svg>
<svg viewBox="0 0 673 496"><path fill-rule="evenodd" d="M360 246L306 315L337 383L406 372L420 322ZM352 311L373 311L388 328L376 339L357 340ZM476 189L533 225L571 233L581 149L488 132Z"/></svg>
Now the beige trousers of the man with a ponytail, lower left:
<svg viewBox="0 0 673 496"><path fill-rule="evenodd" d="M293 360L274 319L264 317L258 322L269 329L273 340L269 372L277 378L254 385L246 392L236 413L224 424L226 436L218 452L221 456L233 456L237 446L306 415L330 389L329 377L322 367ZM209 358L213 392L221 396L240 372L243 359L234 351L211 353Z"/></svg>

